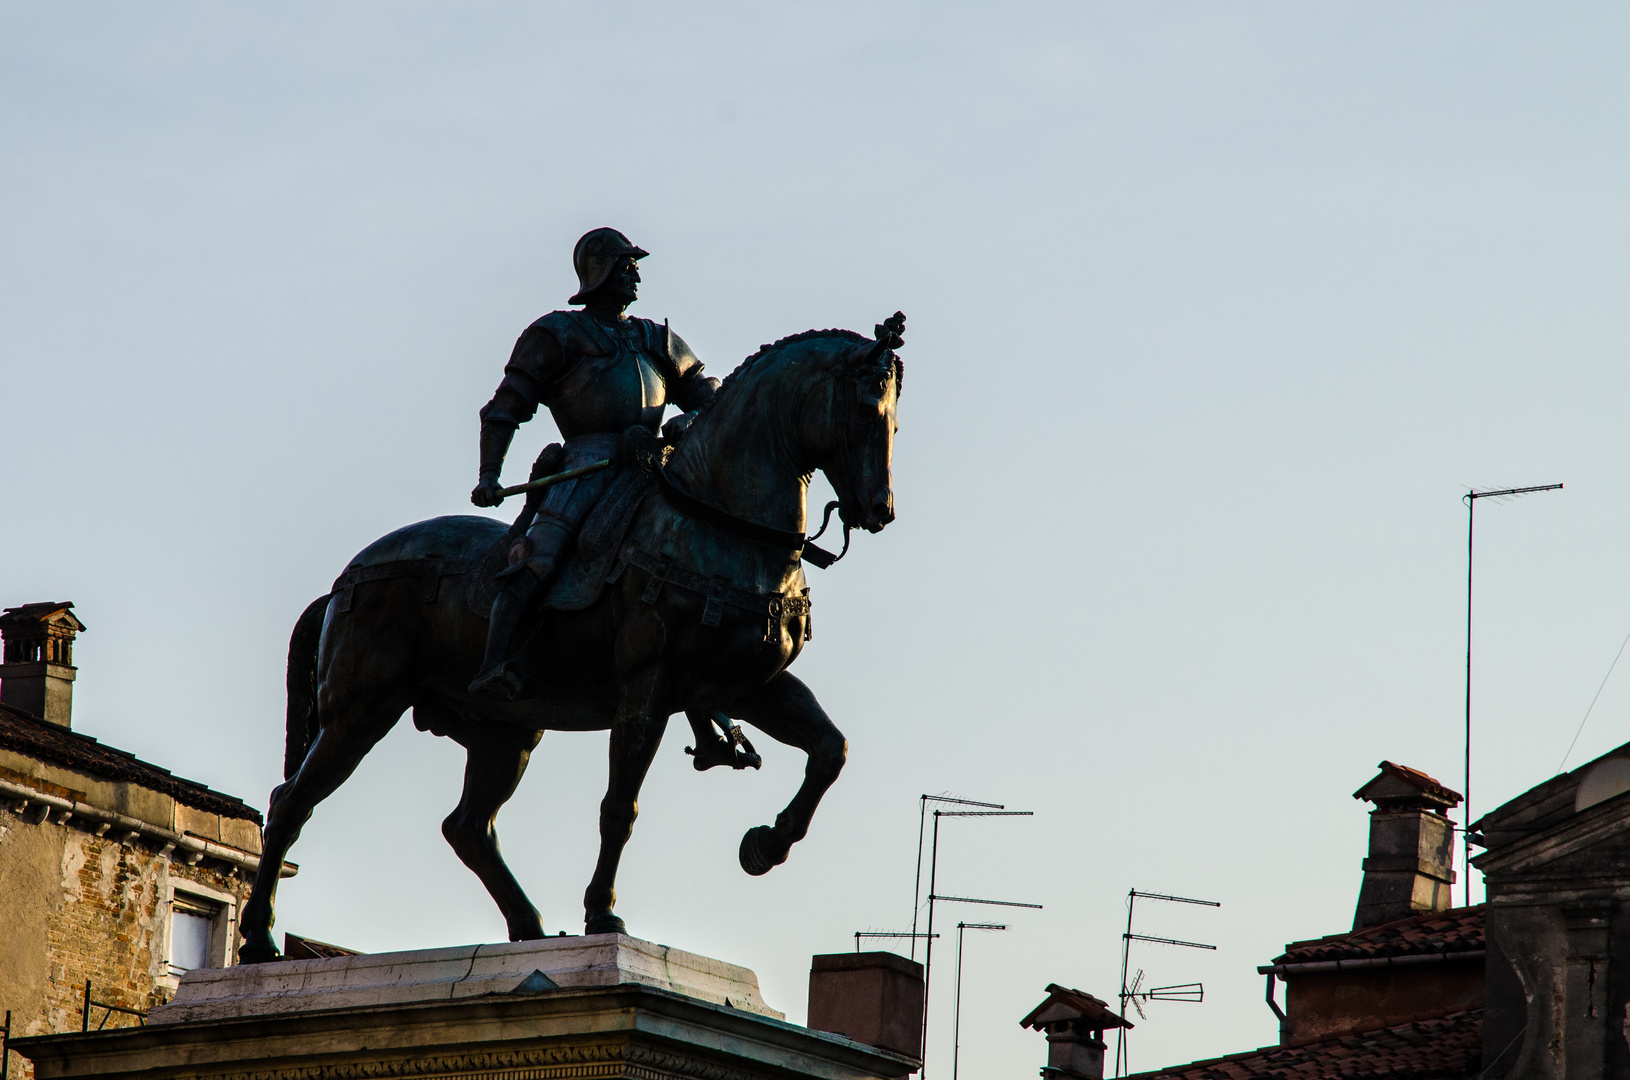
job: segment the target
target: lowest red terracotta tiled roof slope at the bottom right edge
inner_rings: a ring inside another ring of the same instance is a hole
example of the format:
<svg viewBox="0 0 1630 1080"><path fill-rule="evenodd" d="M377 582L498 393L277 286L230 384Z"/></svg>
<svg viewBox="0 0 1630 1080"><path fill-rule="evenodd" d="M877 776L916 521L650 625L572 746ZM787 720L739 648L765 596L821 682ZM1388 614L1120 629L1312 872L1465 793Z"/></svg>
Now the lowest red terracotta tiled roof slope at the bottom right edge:
<svg viewBox="0 0 1630 1080"><path fill-rule="evenodd" d="M1482 1065L1483 1010L1416 1016L1301 1046L1263 1046L1139 1072L1128 1080L1469 1080Z"/></svg>

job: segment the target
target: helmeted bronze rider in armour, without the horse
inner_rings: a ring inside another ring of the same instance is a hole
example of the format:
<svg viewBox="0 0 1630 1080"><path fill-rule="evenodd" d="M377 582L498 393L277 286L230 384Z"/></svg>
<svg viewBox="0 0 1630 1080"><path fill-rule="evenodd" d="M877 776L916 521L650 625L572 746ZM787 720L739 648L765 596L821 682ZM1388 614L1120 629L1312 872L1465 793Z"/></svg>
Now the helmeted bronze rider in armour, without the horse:
<svg viewBox="0 0 1630 1080"><path fill-rule="evenodd" d="M551 311L515 342L504 381L481 409L481 479L469 494L478 507L504 502L499 471L515 428L546 406L564 438L564 469L615 458L623 432L657 433L668 404L691 414L712 399L719 380L703 375L701 360L667 323L624 314L639 296L639 261L649 252L615 228L585 233L572 249L580 288L567 303L582 311ZM672 422L670 422L672 424ZM670 427L672 432L672 427ZM526 529L487 622L487 648L469 692L513 700L520 674L509 670L510 642L556 562L600 502L611 471L592 472L548 489ZM518 555L518 557L517 557Z"/></svg>

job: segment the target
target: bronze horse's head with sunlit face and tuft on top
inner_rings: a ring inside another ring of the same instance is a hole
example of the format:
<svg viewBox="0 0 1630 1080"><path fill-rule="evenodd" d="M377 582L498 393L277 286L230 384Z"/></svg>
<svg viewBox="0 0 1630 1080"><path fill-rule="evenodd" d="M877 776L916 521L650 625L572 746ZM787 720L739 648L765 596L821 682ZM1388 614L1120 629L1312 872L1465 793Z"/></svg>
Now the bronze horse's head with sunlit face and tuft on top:
<svg viewBox="0 0 1630 1080"><path fill-rule="evenodd" d="M895 349L905 344L906 316L895 313L877 326L877 339L854 345L833 380L828 454L822 471L838 492L843 523L877 533L895 520L892 464L895 406L905 365Z"/></svg>

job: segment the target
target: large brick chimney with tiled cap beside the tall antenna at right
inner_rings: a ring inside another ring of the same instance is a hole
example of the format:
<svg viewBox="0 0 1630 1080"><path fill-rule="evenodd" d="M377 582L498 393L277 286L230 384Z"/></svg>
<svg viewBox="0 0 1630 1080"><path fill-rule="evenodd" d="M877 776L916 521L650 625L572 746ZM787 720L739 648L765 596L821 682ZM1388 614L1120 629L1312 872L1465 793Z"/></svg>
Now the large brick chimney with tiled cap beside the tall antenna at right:
<svg viewBox="0 0 1630 1080"><path fill-rule="evenodd" d="M1353 929L1452 907L1454 826L1444 811L1460 803L1460 793L1384 761L1381 774L1353 798L1376 805Z"/></svg>

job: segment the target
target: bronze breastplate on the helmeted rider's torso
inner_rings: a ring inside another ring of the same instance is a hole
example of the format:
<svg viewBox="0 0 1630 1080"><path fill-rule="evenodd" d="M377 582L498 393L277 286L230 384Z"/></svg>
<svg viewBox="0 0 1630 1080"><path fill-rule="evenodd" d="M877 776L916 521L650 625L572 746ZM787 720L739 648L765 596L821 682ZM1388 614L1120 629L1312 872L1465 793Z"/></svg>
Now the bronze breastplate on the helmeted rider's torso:
<svg viewBox="0 0 1630 1080"><path fill-rule="evenodd" d="M662 425L667 384L659 357L650 353L649 332L636 319L595 329L610 352L567 357L567 370L548 402L556 427L566 438L624 432L636 424L655 432Z"/></svg>

